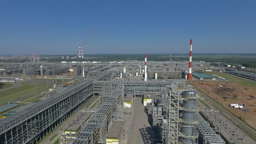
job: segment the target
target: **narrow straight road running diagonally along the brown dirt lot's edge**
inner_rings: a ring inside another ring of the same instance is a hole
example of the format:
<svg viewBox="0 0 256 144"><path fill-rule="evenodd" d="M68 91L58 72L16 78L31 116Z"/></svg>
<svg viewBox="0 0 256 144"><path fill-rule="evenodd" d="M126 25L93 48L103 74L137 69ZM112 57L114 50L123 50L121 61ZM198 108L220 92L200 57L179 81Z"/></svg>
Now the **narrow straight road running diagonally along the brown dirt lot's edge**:
<svg viewBox="0 0 256 144"><path fill-rule="evenodd" d="M197 89L197 92L201 94L201 97L206 100L208 104L210 104L212 107L217 107L217 109L226 117L228 118L232 123L236 124L238 127L243 127L246 130L248 130L250 133L252 133L254 136L256 135L256 131L253 130L251 127L243 123L240 119L236 118L233 116L229 111L225 110L222 106L218 105L214 100L211 98L207 97L205 94L199 91ZM213 106L214 105L214 106ZM240 128L239 128L240 129ZM240 129L242 130L242 129ZM245 131L246 132L246 131ZM252 137L253 139L253 137ZM256 143L256 142L255 142Z"/></svg>

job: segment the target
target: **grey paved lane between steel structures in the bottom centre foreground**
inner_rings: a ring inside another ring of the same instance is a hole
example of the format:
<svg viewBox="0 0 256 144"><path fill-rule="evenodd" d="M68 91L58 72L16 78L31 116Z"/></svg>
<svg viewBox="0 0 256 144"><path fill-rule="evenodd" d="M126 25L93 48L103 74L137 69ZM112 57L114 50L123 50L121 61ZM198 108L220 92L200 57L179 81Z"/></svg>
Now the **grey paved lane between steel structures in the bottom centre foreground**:
<svg viewBox="0 0 256 144"><path fill-rule="evenodd" d="M127 126L127 144L153 143L152 139L155 139L155 133L148 122L148 115L144 111L141 97L136 97L133 102L132 116Z"/></svg>

